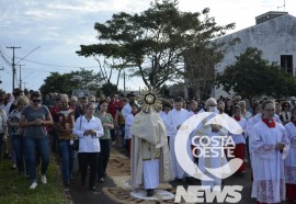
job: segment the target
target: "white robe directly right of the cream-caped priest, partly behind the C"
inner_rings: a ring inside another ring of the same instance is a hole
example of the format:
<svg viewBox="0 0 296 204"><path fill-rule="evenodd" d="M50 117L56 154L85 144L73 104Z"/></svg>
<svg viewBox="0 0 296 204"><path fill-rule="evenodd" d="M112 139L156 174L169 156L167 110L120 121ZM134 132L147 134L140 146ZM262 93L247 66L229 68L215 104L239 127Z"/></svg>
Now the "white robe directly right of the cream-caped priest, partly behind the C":
<svg viewBox="0 0 296 204"><path fill-rule="evenodd" d="M178 133L178 126L182 125L187 118L190 117L190 114L186 110L181 109L180 111L177 111L175 109L171 110L169 112L169 121L170 121L170 126L172 128L172 132L169 134L170 135L170 158L171 158L171 165L172 165L172 170L174 178L178 179L183 179L187 177L185 171L182 169L182 167L179 165L177 161L175 155L174 155L174 139L175 135ZM187 139L187 154L193 160L193 156L191 154L191 140Z"/></svg>

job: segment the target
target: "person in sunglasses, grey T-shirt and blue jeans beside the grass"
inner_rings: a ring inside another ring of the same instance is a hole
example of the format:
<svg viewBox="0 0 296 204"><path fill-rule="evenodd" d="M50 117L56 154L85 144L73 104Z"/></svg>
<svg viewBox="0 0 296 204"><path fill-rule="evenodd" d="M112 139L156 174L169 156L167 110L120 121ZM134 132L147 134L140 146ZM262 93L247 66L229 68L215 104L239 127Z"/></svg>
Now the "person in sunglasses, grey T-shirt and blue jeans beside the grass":
<svg viewBox="0 0 296 204"><path fill-rule="evenodd" d="M49 139L46 126L53 125L53 118L47 106L42 105L38 91L33 91L30 99L31 104L22 111L20 126L24 127L24 151L32 181L30 189L35 189L37 186L36 151L42 159L41 181L43 184L47 183L45 174L49 165Z"/></svg>

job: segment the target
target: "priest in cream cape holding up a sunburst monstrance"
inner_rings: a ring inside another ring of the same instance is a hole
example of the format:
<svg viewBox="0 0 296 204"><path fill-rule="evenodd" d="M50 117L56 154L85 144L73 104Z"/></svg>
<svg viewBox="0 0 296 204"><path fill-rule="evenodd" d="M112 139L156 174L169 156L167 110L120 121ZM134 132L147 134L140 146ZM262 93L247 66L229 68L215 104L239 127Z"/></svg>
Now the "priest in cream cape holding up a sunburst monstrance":
<svg viewBox="0 0 296 204"><path fill-rule="evenodd" d="M173 175L168 134L162 120L153 110L157 103L153 92L145 94L143 101L141 111L135 116L130 128L130 180L132 190L144 186L147 196L152 196L159 183L171 181Z"/></svg>

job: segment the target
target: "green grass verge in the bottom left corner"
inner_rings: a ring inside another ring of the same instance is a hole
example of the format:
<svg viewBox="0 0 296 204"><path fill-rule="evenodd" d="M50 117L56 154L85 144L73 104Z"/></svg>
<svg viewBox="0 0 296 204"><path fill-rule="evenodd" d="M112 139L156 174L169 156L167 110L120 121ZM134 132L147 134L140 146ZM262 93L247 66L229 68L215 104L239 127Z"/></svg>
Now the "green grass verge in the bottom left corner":
<svg viewBox="0 0 296 204"><path fill-rule="evenodd" d="M68 204L60 179L60 170L54 156L46 172L47 184L41 182L37 168L38 186L30 190L31 181L25 175L19 175L18 170L11 170L9 159L0 160L0 203L1 204Z"/></svg>

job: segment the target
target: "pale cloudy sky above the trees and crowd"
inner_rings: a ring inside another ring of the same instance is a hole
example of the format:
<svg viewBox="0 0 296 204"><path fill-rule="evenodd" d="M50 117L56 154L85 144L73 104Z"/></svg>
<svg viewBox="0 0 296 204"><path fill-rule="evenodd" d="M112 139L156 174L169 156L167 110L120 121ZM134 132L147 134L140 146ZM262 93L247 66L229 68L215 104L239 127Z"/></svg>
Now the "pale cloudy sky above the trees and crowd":
<svg viewBox="0 0 296 204"><path fill-rule="evenodd" d="M22 87L38 89L49 72L79 70L99 71L93 58L79 57L80 45L96 43L95 22L104 23L121 11L139 13L151 0L0 0L0 88L12 90L10 46L15 49L15 63L22 66ZM254 25L254 18L267 11L285 11L296 16L296 0L180 0L182 11L201 12L209 8L219 25L236 23L236 30ZM38 47L41 46L41 47ZM38 47L38 48L36 48ZM36 49L35 49L36 48ZM33 50L33 52L32 52ZM32 52L32 53L31 53ZM29 54L29 55L27 55ZM3 55L9 61L4 61ZM26 56L26 57L25 57ZM23 60L21 58L25 57ZM16 66L19 87L20 69ZM115 78L113 79L115 83ZM138 90L144 83L129 79L127 89ZM123 89L123 80L119 82Z"/></svg>

